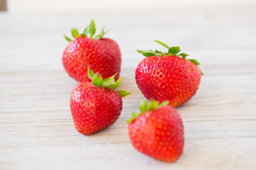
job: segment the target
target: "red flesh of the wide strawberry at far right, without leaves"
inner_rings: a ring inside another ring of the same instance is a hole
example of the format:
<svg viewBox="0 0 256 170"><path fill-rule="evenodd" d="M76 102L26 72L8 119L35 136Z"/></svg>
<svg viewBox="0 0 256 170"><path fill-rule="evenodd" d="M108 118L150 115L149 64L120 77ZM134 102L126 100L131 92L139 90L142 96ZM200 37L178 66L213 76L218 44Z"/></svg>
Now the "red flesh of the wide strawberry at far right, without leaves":
<svg viewBox="0 0 256 170"><path fill-rule="evenodd" d="M135 79L148 100L170 101L177 107L196 94L201 71L193 62L175 55L150 56L139 63Z"/></svg>

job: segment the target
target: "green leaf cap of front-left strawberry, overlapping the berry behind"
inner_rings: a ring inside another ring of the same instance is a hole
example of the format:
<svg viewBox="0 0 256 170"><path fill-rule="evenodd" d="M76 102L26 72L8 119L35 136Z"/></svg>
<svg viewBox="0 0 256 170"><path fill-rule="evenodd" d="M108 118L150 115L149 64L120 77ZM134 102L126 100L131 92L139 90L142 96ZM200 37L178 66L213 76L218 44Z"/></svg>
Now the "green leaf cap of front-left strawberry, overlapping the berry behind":
<svg viewBox="0 0 256 170"><path fill-rule="evenodd" d="M114 77L117 74L114 74L112 77L108 77L107 79L102 79L102 76L99 73L94 73L88 67L88 77L92 80L92 84L95 86L103 87L105 89L117 89L120 86L122 77L119 77L117 81L114 81ZM127 91L119 90L117 91L120 97L124 98L125 96L131 94Z"/></svg>

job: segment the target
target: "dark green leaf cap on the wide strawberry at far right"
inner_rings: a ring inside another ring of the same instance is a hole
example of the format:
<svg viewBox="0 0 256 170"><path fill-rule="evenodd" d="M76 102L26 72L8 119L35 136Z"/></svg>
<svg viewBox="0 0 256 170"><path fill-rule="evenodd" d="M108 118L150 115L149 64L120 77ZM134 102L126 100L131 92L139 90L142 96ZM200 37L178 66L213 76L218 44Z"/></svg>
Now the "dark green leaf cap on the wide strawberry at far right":
<svg viewBox="0 0 256 170"><path fill-rule="evenodd" d="M200 65L200 63L195 60L195 59L186 59L186 57L188 57L189 55L185 54L185 53L179 53L181 52L181 48L180 47L169 47L169 45L166 45L166 43L161 42L159 40L155 40L155 42L159 43L160 45L163 45L164 47L166 47L168 49L168 52L161 52L159 50L137 50L137 52L142 53L142 55L149 57L149 56L160 56L160 57L164 57L166 55L176 55L178 57L182 57L185 60L188 60L190 62L193 62L193 64L196 64L196 66ZM201 71L201 70L200 70ZM201 74L203 75L203 72L201 72Z"/></svg>

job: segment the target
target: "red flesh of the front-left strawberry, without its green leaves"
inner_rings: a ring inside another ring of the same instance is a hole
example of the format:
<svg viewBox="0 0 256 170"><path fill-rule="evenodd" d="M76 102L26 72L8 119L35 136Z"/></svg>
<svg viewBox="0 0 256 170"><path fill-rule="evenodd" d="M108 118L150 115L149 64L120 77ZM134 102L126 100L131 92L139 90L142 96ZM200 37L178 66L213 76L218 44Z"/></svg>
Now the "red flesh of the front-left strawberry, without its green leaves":
<svg viewBox="0 0 256 170"><path fill-rule="evenodd" d="M109 127L119 118L122 98L113 89L82 82L71 92L70 111L78 132L91 135Z"/></svg>

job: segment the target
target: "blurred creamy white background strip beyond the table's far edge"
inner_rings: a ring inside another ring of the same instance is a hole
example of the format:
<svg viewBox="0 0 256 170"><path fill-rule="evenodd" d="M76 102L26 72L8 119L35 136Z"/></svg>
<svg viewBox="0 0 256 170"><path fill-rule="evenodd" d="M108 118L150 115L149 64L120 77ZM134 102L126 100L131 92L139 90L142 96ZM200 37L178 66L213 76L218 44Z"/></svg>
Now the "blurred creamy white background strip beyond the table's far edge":
<svg viewBox="0 0 256 170"><path fill-rule="evenodd" d="M83 13L131 9L144 11L160 8L172 10L176 6L255 4L255 0L7 0L7 2L10 13Z"/></svg>

